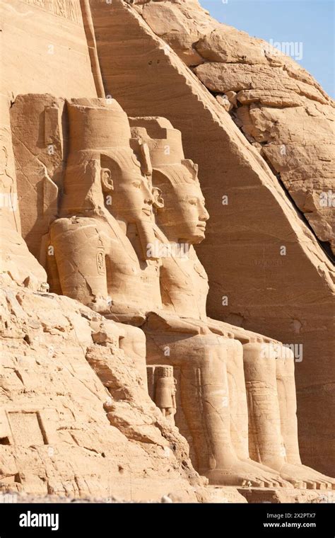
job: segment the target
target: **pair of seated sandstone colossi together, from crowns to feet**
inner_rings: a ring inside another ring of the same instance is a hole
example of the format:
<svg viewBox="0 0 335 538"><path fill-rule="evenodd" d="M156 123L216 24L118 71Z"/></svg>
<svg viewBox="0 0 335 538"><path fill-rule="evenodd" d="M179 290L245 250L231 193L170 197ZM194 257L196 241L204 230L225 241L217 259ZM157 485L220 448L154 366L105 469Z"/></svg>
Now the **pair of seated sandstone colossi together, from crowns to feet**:
<svg viewBox="0 0 335 538"><path fill-rule="evenodd" d="M329 487L300 465L293 357L279 365L274 340L206 316L193 245L208 213L180 132L158 118L134 118L131 131L110 99L67 109L64 192L47 244L54 290L122 323L143 382L146 362L173 367L180 409L170 374L156 380L155 401L211 483Z"/></svg>

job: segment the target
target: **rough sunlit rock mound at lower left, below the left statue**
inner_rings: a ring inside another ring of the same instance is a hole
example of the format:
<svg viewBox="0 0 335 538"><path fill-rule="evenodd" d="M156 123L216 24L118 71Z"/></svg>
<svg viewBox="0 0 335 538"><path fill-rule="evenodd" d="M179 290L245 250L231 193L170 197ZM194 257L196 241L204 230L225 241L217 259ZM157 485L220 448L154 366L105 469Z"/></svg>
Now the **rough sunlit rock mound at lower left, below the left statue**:
<svg viewBox="0 0 335 538"><path fill-rule="evenodd" d="M141 386L112 321L4 285L1 318L1 491L203 498L187 443Z"/></svg>

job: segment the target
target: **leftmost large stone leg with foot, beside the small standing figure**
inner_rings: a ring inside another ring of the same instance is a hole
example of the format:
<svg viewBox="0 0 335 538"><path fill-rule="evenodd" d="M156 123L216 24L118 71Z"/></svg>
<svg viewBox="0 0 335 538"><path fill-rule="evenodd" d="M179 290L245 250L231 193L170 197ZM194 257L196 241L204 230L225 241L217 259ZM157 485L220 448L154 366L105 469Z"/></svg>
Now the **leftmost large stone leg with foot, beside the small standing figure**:
<svg viewBox="0 0 335 538"><path fill-rule="evenodd" d="M199 473L216 484L280 486L282 481L274 471L268 473L237 458L231 440L225 339L173 331L146 331L146 336L148 362L170 364L181 372L182 411Z"/></svg>

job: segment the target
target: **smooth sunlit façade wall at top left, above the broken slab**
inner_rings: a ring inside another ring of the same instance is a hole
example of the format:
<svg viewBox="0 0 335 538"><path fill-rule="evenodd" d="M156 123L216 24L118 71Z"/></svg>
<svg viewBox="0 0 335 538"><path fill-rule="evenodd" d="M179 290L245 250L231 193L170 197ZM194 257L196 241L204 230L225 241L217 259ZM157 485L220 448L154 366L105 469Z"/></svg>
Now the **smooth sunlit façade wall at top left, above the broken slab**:
<svg viewBox="0 0 335 538"><path fill-rule="evenodd" d="M1 93L96 96L79 1L4 0L0 17Z"/></svg>

